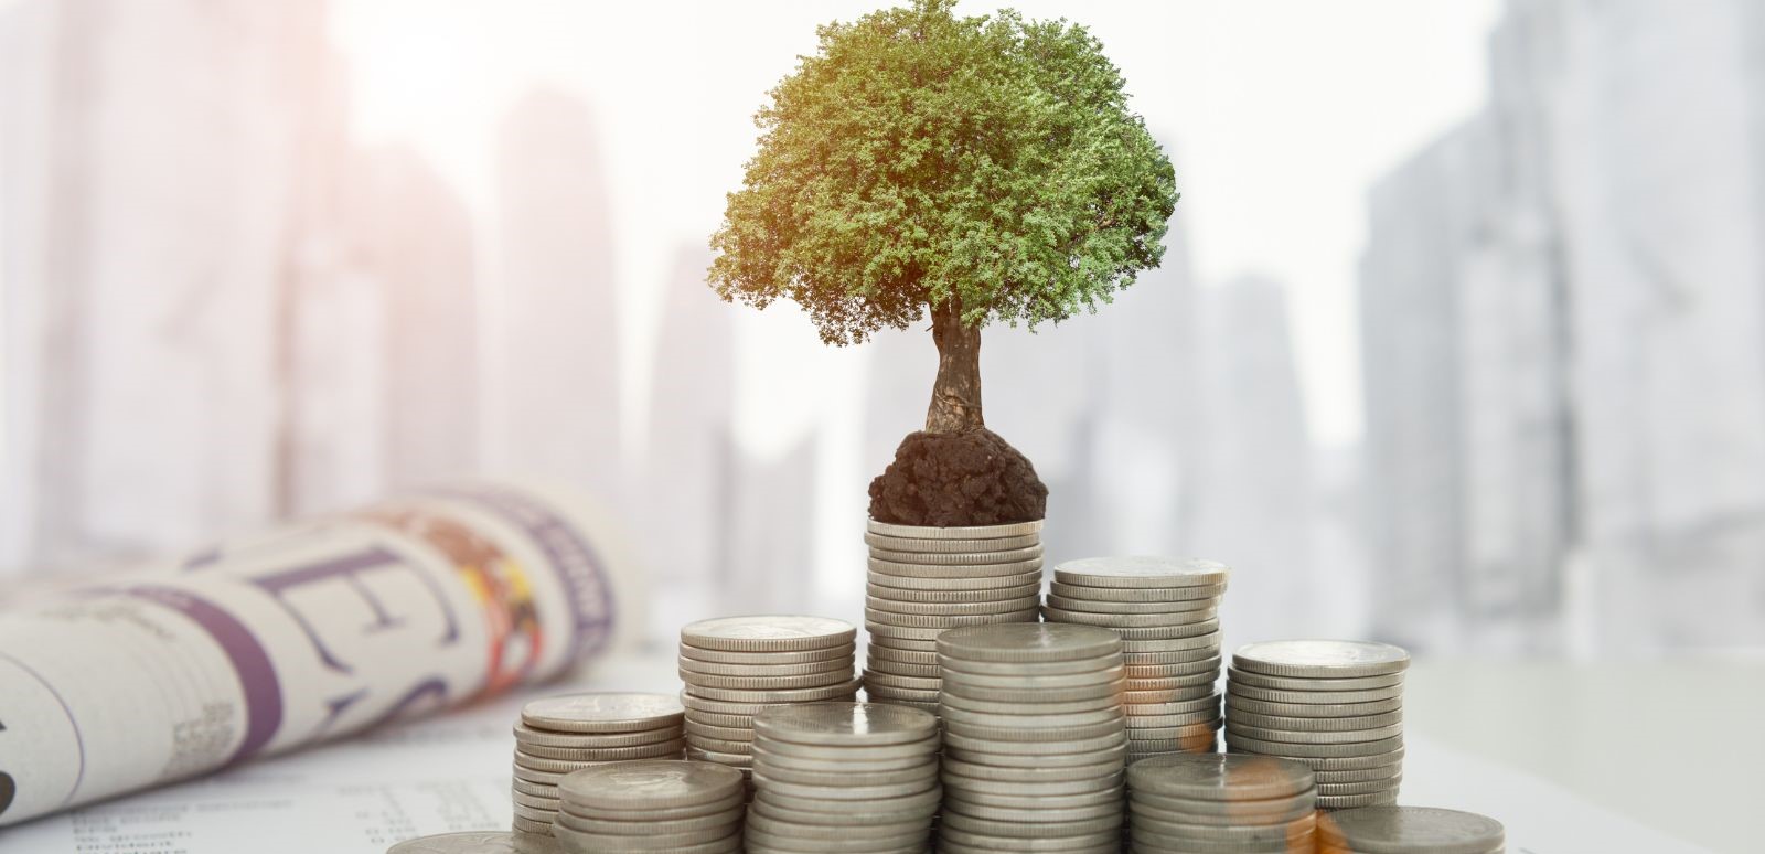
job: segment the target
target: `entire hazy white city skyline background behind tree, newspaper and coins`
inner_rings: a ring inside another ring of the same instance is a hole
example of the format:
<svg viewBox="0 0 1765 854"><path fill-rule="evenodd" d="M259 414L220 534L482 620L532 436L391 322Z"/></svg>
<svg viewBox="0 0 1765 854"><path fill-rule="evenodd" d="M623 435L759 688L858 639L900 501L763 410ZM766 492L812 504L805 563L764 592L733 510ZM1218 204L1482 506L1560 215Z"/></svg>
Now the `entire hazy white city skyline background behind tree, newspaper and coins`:
<svg viewBox="0 0 1765 854"><path fill-rule="evenodd" d="M983 339L1050 559L1232 563L1228 642L1761 644L1765 208L1673 189L1765 187L1747 4L1013 5L1101 39L1183 191L1123 305ZM928 335L702 268L766 90L872 7L0 0L0 577L482 473L627 513L658 637L856 616Z"/></svg>

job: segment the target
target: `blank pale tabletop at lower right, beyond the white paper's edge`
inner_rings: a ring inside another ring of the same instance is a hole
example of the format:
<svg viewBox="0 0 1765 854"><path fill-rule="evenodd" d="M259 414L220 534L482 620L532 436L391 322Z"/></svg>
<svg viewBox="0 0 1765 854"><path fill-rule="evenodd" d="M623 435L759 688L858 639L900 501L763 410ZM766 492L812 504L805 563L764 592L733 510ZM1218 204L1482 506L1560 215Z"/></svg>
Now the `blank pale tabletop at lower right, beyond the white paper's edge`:
<svg viewBox="0 0 1765 854"><path fill-rule="evenodd" d="M1424 658L1405 685L1414 732L1712 850L1761 850L1765 658Z"/></svg>

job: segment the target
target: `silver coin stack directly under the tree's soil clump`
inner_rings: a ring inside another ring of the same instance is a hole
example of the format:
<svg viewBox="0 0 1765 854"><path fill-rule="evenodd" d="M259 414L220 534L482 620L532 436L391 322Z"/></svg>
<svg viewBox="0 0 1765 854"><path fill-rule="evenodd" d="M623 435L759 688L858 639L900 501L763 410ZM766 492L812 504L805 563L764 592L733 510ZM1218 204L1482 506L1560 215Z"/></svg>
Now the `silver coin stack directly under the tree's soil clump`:
<svg viewBox="0 0 1765 854"><path fill-rule="evenodd" d="M865 695L937 711L937 635L987 623L1034 623L1041 522L927 528L868 522Z"/></svg>

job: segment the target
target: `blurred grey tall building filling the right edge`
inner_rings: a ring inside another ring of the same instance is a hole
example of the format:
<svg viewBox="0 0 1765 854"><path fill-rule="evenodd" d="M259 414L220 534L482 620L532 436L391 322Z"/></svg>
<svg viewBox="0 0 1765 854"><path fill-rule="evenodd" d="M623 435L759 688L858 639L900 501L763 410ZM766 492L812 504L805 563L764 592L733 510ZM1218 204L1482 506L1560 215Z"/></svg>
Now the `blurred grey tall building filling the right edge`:
<svg viewBox="0 0 1765 854"><path fill-rule="evenodd" d="M1740 0L1509 4L1488 109L1375 191L1363 333L1391 633L1765 637L1761 39Z"/></svg>

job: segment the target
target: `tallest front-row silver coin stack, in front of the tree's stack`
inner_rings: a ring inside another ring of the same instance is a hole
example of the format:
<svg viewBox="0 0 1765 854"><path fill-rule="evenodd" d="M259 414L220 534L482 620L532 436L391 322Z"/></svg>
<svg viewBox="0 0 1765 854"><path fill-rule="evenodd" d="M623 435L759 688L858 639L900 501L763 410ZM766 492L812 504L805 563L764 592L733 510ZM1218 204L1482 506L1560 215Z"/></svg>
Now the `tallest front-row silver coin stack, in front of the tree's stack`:
<svg viewBox="0 0 1765 854"><path fill-rule="evenodd" d="M1008 623L937 639L944 669L944 813L937 850L1121 845L1121 639Z"/></svg>

